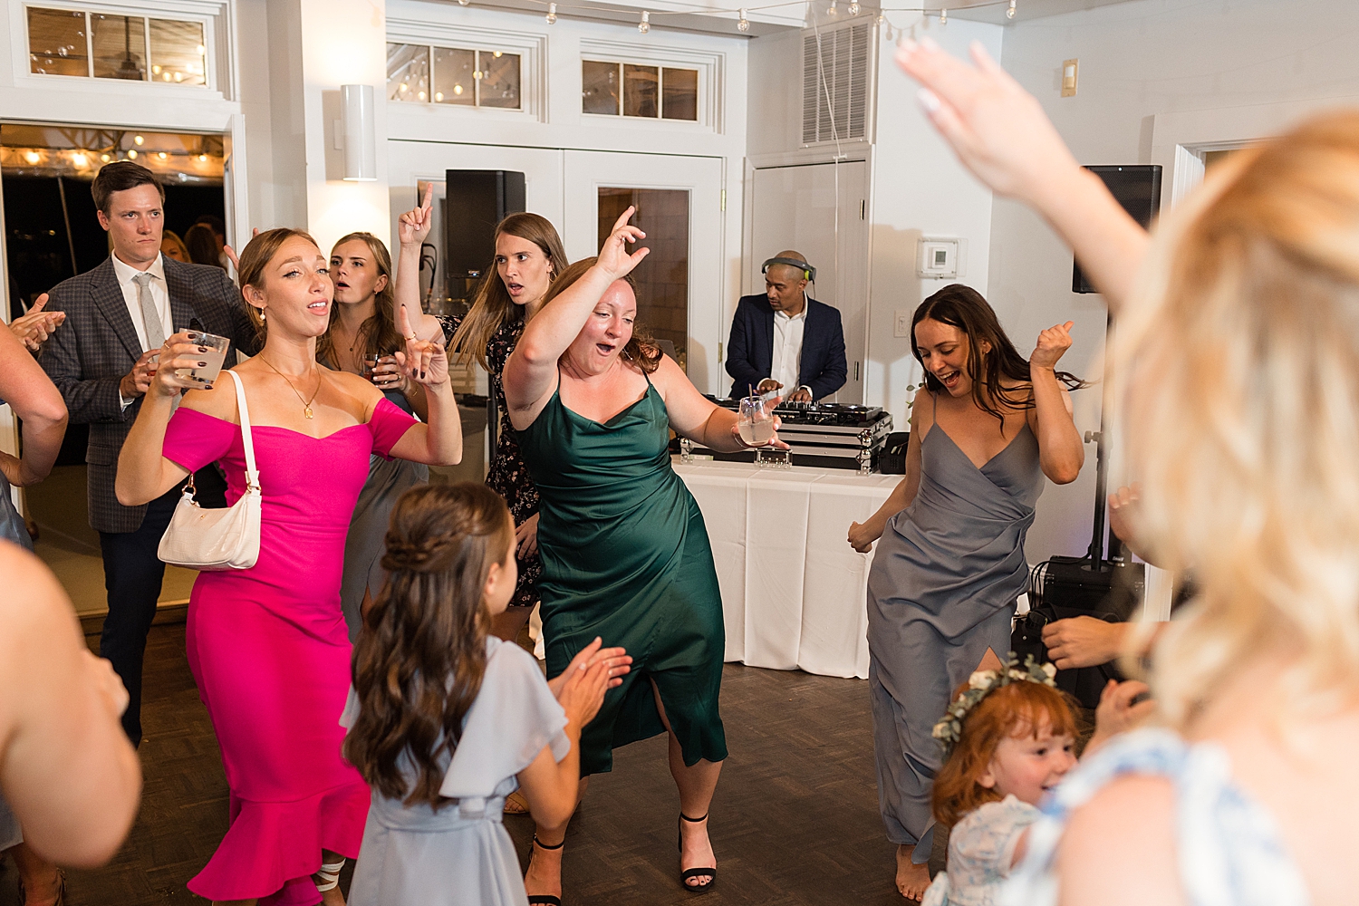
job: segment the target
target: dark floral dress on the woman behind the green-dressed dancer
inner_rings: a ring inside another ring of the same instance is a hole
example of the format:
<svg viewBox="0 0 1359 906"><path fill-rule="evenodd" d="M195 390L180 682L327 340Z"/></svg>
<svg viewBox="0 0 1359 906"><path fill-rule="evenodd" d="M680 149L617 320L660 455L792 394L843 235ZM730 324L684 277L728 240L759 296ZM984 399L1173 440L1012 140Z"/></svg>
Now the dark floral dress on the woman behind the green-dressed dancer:
<svg viewBox="0 0 1359 906"><path fill-rule="evenodd" d="M444 336L451 337L461 326L459 318L440 318L444 325ZM453 330L450 330L450 325ZM491 393L496 398L496 409L500 413L500 425L496 431L496 455L491 460L487 471L487 485L506 499L510 515L514 516L515 527L522 526L526 519L538 512L538 488L529 477L529 467L523 465L519 452L519 436L514 425L510 424L510 409L506 406L506 387L501 375L506 361L514 352L519 337L523 336L523 321L511 321L500 325L491 340L487 341L487 364L491 365ZM451 341L450 341L451 342ZM519 583L515 585L511 607L533 607L538 602L538 580L542 579L542 558L534 553L527 558L518 558Z"/></svg>

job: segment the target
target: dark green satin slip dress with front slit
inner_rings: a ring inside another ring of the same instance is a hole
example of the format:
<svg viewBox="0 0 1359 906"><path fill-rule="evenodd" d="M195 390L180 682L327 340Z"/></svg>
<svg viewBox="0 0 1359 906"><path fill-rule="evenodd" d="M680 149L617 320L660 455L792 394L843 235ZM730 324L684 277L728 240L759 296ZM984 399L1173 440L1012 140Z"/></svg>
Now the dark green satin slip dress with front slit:
<svg viewBox="0 0 1359 906"><path fill-rule="evenodd" d="M727 757L718 714L726 637L708 530L670 467L670 418L646 395L606 422L552 399L516 432L541 497L542 630L548 676L595 636L632 655L580 735L580 773L613 767L613 748L665 732L660 691L685 765Z"/></svg>

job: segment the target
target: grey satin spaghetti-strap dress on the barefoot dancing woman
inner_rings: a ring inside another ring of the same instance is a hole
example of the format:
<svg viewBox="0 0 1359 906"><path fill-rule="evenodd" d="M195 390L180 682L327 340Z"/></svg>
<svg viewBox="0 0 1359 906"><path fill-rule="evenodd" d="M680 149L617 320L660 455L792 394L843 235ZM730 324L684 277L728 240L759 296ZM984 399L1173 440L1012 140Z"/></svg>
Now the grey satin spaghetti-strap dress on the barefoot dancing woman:
<svg viewBox="0 0 1359 906"><path fill-rule="evenodd" d="M938 425L920 444L920 489L887 523L868 570L868 690L887 839L930 856L934 724L991 648L1004 660L1042 492L1027 420L980 469Z"/></svg>

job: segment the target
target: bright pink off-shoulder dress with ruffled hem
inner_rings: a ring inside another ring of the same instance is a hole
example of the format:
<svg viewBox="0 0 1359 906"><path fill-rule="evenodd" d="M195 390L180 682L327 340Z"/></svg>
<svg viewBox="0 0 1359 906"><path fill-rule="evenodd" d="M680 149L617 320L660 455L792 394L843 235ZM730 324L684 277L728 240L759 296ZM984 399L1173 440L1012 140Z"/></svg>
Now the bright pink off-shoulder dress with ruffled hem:
<svg viewBox="0 0 1359 906"><path fill-rule="evenodd" d="M189 890L262 905L321 902L321 850L359 854L368 786L340 755L349 634L340 611L344 543L368 456L414 420L383 399L368 424L326 437L254 427L262 496L253 569L204 572L189 599L189 668L222 746L231 826ZM241 427L179 407L164 455L220 462L227 501L245 492Z"/></svg>

